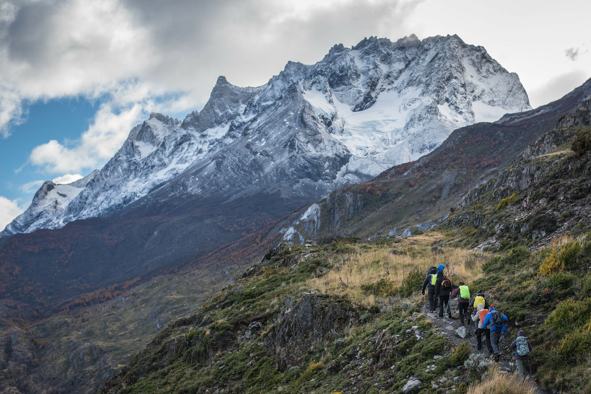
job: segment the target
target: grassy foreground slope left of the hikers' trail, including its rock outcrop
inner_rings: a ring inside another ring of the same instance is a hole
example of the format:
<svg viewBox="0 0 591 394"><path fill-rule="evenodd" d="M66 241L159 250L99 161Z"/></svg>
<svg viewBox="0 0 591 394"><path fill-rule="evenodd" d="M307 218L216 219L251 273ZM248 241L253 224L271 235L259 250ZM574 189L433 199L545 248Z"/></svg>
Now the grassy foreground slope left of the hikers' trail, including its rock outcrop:
<svg viewBox="0 0 591 394"><path fill-rule="evenodd" d="M452 388L470 350L452 351L413 293L441 259L466 277L480 268L466 251L433 252L441 238L274 249L167 326L102 392L378 393L401 390L410 376L427 383L424 392L441 376L441 388Z"/></svg>

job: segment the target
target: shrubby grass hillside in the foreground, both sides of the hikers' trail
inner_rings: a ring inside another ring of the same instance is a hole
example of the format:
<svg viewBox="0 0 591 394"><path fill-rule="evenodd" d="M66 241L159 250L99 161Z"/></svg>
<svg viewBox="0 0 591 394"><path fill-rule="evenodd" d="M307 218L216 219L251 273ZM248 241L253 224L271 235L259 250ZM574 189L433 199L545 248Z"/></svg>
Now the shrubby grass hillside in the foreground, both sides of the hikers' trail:
<svg viewBox="0 0 591 394"><path fill-rule="evenodd" d="M450 341L417 295L426 267L440 261L509 316L509 339L526 330L541 386L586 392L591 274L580 272L591 268L590 235L494 255L448 247L453 236L438 232L284 245L167 326L102 393L401 392L413 379L418 392L478 392L498 378L494 363L476 358L473 337Z"/></svg>

